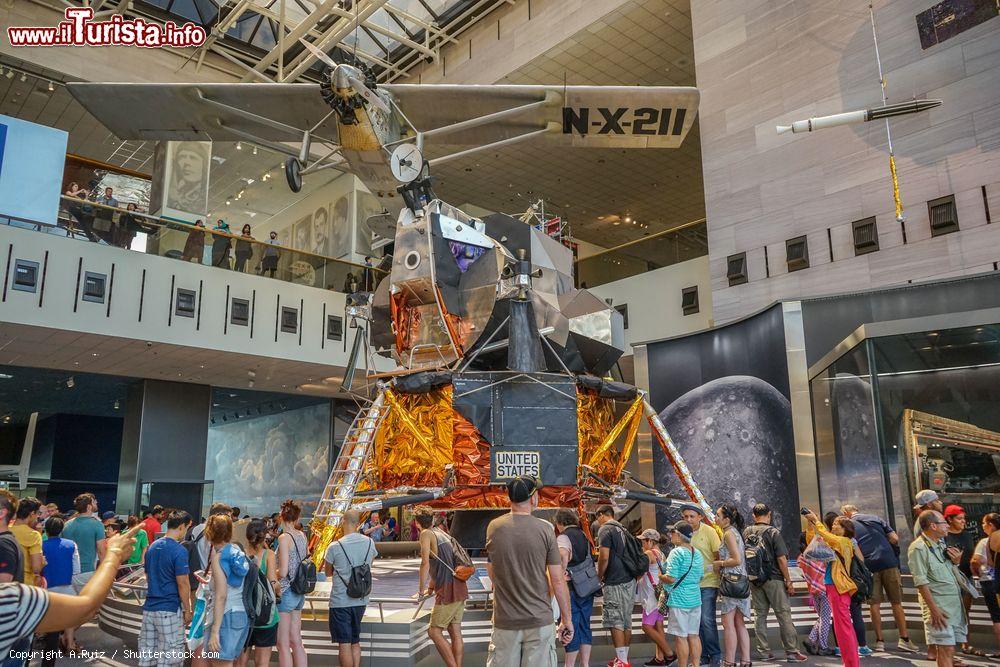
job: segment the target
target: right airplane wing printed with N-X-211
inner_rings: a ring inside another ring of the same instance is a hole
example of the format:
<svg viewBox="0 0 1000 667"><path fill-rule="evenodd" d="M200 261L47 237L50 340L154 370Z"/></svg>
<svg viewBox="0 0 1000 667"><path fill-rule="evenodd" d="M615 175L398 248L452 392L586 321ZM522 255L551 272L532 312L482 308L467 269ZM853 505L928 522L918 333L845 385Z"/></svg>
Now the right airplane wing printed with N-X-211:
<svg viewBox="0 0 1000 667"><path fill-rule="evenodd" d="M697 88L684 86L520 86L385 84L407 119L426 132L514 107L549 105L435 136L431 146L482 145L558 124L551 143L590 148L678 148L698 112Z"/></svg>

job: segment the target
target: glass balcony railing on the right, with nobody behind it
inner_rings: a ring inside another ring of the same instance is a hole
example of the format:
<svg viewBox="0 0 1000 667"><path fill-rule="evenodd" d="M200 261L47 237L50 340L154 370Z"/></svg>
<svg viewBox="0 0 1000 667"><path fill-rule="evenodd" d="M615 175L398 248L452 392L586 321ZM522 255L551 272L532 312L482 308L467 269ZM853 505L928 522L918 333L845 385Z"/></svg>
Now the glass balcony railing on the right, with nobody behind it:
<svg viewBox="0 0 1000 667"><path fill-rule="evenodd" d="M597 287L708 254L705 219L623 243L576 262L578 287Z"/></svg>

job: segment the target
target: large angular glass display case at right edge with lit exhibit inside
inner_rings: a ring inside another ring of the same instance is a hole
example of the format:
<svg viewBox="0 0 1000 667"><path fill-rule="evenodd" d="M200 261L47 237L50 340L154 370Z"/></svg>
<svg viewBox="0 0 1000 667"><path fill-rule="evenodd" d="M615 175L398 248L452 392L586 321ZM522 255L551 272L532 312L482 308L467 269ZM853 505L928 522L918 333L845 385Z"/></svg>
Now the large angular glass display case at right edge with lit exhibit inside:
<svg viewBox="0 0 1000 667"><path fill-rule="evenodd" d="M885 516L905 550L920 489L961 505L969 530L1000 509L1000 325L861 340L810 394L824 511Z"/></svg>

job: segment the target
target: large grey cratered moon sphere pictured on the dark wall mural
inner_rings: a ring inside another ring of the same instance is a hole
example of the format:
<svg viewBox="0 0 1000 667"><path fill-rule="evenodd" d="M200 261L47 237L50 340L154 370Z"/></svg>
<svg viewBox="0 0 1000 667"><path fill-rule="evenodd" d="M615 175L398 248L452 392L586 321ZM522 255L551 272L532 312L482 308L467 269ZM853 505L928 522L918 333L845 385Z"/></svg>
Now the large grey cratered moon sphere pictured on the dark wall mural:
<svg viewBox="0 0 1000 667"><path fill-rule="evenodd" d="M774 512L774 523L793 552L800 532L798 483L791 404L763 380L730 375L683 394L660 413L712 507L733 502L747 518L758 502ZM685 497L670 464L653 459L656 488ZM658 523L677 510L661 508Z"/></svg>

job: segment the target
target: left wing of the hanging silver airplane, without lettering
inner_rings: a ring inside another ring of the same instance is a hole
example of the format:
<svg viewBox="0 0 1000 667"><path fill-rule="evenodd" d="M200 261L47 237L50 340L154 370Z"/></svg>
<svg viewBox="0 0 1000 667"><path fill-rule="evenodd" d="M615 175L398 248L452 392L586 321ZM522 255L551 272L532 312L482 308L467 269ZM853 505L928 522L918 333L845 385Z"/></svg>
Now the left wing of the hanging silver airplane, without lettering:
<svg viewBox="0 0 1000 667"><path fill-rule="evenodd" d="M311 83L69 83L70 93L120 139L335 142L336 118Z"/></svg>

